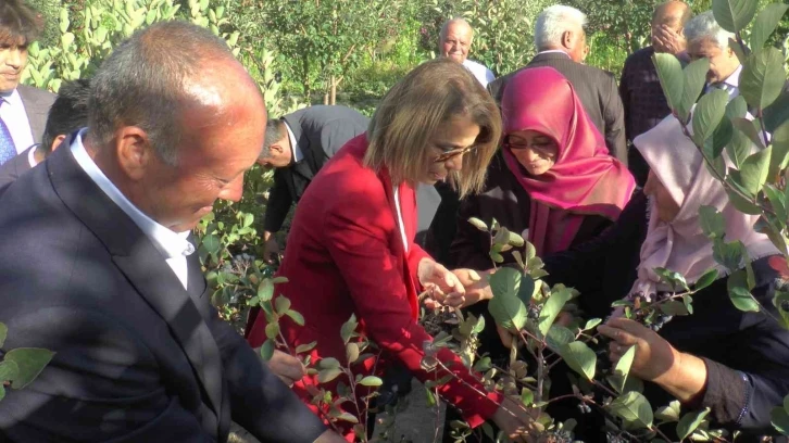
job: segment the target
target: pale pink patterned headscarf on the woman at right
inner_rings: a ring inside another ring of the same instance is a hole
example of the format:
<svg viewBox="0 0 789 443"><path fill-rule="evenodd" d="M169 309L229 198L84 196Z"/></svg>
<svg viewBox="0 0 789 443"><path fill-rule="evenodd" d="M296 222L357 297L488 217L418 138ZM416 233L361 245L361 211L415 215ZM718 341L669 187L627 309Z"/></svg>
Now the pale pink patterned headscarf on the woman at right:
<svg viewBox="0 0 789 443"><path fill-rule="evenodd" d="M688 130L693 131L691 126ZM729 202L724 187L710 174L699 150L682 134L679 121L673 116L664 118L653 129L636 137L634 144L679 205L679 213L671 223L663 223L658 217L655 201L650 199L647 239L641 245L638 280L631 293L651 296L668 290L659 284L660 278L653 270L656 267L684 275L688 284L694 283L711 268L716 268L721 276L727 273L715 263L712 241L701 230L699 208L703 205L714 206L722 213L726 220L726 241L741 241L752 258L778 253L767 236L753 228L759 216L743 214Z"/></svg>

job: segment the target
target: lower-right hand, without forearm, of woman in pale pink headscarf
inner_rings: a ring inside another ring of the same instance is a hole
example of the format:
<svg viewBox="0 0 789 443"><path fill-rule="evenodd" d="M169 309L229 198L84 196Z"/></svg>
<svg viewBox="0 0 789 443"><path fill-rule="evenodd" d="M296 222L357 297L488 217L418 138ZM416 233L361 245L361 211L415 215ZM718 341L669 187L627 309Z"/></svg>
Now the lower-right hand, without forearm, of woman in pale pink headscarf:
<svg viewBox="0 0 789 443"><path fill-rule="evenodd" d="M679 352L658 332L627 318L614 318L598 327L598 331L612 339L609 357L616 363L630 346L636 346L636 357L630 374L641 380L655 381L679 364Z"/></svg>

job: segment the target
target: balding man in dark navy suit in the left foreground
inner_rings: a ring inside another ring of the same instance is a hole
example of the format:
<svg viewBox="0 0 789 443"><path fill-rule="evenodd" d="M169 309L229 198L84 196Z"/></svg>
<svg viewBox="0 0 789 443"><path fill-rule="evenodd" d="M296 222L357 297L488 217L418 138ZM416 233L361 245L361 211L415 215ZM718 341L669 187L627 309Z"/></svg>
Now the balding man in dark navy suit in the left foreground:
<svg viewBox="0 0 789 443"><path fill-rule="evenodd" d="M164 22L91 80L88 128L1 197L3 347L54 357L0 402L0 441L343 440L209 303L190 230L239 200L266 111L224 40Z"/></svg>

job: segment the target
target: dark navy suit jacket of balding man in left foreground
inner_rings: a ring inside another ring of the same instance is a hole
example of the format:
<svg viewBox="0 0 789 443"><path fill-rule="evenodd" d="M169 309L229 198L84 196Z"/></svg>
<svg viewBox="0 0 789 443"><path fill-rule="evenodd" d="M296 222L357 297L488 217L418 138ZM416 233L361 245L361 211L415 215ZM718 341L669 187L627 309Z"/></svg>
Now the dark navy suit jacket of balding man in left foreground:
<svg viewBox="0 0 789 443"><path fill-rule="evenodd" d="M66 144L68 145L68 144ZM0 197L3 350L57 354L0 402L0 441L312 442L322 422L62 148Z"/></svg>

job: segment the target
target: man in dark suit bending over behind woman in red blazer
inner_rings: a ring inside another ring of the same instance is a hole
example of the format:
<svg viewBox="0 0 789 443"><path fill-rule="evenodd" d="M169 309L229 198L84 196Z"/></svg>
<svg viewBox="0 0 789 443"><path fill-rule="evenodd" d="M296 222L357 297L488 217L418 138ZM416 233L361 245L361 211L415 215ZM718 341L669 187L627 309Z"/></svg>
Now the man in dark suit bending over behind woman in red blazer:
<svg viewBox="0 0 789 443"><path fill-rule="evenodd" d="M275 167L274 186L266 207L263 240L264 256L280 252L274 236L293 203L298 203L313 177L346 142L367 130L370 118L346 106L310 106L266 124L266 140L258 160L261 166ZM417 238L424 238L441 197L433 187L417 190Z"/></svg>

